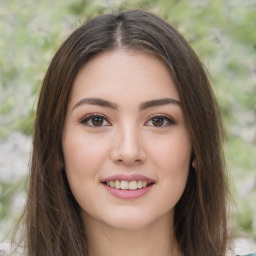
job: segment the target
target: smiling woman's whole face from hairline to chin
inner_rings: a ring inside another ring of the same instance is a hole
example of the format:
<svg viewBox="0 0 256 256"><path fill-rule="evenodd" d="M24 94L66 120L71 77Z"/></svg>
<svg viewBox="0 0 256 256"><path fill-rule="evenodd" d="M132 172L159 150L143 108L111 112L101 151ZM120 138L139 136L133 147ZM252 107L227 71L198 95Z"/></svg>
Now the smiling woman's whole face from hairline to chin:
<svg viewBox="0 0 256 256"><path fill-rule="evenodd" d="M191 141L176 86L157 58L118 50L89 61L72 87L62 146L85 222L141 229L172 219Z"/></svg>

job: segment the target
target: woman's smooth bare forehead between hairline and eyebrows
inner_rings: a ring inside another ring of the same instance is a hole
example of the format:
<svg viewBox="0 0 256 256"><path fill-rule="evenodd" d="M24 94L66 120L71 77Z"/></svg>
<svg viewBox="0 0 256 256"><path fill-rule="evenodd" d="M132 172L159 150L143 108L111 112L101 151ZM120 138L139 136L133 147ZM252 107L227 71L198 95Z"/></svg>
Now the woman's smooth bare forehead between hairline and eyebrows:
<svg viewBox="0 0 256 256"><path fill-rule="evenodd" d="M78 72L70 101L82 97L107 97L113 101L151 100L179 95L166 66L153 55L117 50L97 55Z"/></svg>

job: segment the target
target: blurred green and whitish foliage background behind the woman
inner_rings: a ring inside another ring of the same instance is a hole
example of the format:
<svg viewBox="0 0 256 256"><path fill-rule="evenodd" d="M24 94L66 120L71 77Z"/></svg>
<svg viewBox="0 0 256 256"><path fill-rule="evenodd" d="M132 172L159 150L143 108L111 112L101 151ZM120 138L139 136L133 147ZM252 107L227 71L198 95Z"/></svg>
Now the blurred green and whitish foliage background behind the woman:
<svg viewBox="0 0 256 256"><path fill-rule="evenodd" d="M0 242L25 200L37 97L54 52L86 19L135 8L171 22L209 70L226 128L231 224L256 239L255 0L0 0Z"/></svg>

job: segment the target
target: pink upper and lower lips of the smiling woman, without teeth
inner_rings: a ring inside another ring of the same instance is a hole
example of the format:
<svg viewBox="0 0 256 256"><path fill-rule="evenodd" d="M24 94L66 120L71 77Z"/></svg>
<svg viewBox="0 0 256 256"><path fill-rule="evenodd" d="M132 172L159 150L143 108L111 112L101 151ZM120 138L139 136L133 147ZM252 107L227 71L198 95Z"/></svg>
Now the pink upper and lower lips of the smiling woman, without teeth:
<svg viewBox="0 0 256 256"><path fill-rule="evenodd" d="M147 181L148 183L152 183L152 184L148 185L145 188L141 188L141 189L136 189L136 190L124 189L124 190L122 190L122 189L109 187L106 184L106 182L112 181L112 180L126 180L126 181L142 180L142 181ZM115 197L118 197L120 199L136 199L136 198L140 198L143 195L145 195L146 193L148 193L152 189L152 187L154 186L154 182L155 182L154 180L152 180L148 177L145 177L143 175L117 174L117 175L110 176L106 179L103 179L101 183L105 187L105 189Z"/></svg>

